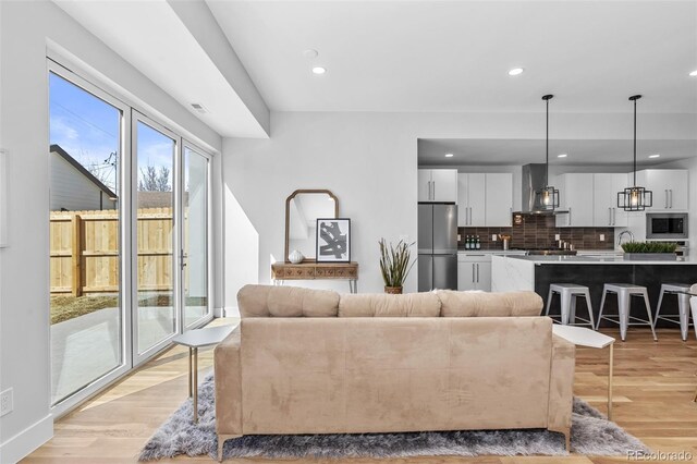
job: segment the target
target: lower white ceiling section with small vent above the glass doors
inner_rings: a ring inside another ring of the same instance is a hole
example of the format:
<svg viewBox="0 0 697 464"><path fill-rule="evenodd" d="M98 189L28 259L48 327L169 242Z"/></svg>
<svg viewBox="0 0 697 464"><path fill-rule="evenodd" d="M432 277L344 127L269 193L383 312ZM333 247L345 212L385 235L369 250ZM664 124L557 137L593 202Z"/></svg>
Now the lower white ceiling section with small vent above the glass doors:
<svg viewBox="0 0 697 464"><path fill-rule="evenodd" d="M203 103L207 112L195 115L220 135L267 136L230 84L227 70L211 58L217 50L204 49L167 1L53 1L187 110ZM215 20L210 22L217 27Z"/></svg>

